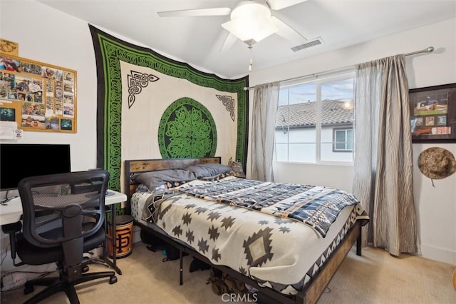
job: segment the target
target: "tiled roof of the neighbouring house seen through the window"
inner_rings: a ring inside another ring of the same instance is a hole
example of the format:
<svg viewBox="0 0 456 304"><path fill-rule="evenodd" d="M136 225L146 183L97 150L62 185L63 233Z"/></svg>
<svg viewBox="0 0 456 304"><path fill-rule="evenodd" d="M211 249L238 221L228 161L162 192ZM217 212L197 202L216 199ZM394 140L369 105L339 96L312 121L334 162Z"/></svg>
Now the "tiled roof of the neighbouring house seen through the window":
<svg viewBox="0 0 456 304"><path fill-rule="evenodd" d="M324 100L321 109L321 124L323 126L341 123L353 123L353 103L347 107L346 101ZM304 127L315 126L316 102L296 103L277 108L276 128L281 126Z"/></svg>

